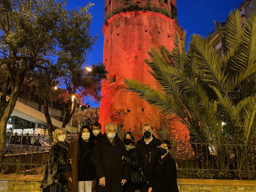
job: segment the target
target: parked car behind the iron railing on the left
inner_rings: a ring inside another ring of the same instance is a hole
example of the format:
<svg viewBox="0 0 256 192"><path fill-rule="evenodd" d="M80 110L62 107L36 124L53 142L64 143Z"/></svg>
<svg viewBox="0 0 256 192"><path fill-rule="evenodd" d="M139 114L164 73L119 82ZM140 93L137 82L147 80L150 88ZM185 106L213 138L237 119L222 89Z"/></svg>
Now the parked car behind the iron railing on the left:
<svg viewBox="0 0 256 192"><path fill-rule="evenodd" d="M43 137L42 137L43 138ZM4 154L49 151L50 145L38 136L14 135L7 139Z"/></svg>

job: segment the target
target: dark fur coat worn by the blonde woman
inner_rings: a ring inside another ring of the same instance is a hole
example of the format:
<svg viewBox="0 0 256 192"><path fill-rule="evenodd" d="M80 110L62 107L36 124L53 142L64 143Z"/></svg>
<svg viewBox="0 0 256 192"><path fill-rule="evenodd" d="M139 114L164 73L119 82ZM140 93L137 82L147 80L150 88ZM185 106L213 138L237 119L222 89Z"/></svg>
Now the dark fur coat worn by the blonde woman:
<svg viewBox="0 0 256 192"><path fill-rule="evenodd" d="M69 144L61 141L51 147L40 188L46 188L52 184L59 185L61 188L67 187L65 172L57 172L57 169L58 165L66 164L68 150Z"/></svg>

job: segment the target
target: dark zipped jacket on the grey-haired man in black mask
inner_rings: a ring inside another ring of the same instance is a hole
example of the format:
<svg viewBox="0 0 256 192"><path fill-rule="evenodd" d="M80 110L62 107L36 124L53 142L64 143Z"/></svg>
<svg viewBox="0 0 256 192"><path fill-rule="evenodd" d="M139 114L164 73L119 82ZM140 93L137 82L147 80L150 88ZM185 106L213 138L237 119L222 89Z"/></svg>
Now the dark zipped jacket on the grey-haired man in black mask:
<svg viewBox="0 0 256 192"><path fill-rule="evenodd" d="M146 181L150 186L154 185L155 181L155 168L158 165L158 160L160 154L158 151L158 146L160 145L160 140L155 138L153 135L153 140L146 145L144 137L137 141L137 148L140 151L140 161L142 171L146 177Z"/></svg>

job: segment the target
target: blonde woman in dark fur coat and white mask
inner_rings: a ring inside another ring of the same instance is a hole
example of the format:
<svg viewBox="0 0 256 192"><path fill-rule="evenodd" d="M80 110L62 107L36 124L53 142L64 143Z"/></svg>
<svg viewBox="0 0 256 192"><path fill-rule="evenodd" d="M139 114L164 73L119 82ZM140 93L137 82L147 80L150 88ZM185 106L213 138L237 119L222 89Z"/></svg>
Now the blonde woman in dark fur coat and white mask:
<svg viewBox="0 0 256 192"><path fill-rule="evenodd" d="M66 164L66 155L69 150L69 144L66 141L66 130L56 129L40 186L43 188L43 192L64 192L64 188L67 187L65 171L70 170L71 165Z"/></svg>

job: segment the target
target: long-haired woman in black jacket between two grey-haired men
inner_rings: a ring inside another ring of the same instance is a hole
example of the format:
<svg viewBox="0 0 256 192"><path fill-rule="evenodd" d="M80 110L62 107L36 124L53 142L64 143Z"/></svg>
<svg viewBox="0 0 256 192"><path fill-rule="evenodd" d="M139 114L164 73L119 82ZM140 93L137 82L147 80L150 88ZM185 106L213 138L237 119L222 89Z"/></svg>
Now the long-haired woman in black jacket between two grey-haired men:
<svg viewBox="0 0 256 192"><path fill-rule="evenodd" d="M139 169L140 167L140 152L137 148L136 142L132 132L126 132L124 134L124 146L127 150L128 157L122 157L122 160L132 169ZM135 192L140 185L134 185L129 179L124 185L124 192Z"/></svg>

